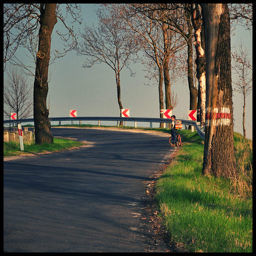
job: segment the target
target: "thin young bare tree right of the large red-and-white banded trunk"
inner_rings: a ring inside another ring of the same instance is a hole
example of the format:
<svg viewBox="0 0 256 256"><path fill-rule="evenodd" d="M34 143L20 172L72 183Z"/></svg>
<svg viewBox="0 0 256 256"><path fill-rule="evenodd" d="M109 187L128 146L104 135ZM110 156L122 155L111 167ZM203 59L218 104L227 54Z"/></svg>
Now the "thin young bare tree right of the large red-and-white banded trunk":
<svg viewBox="0 0 256 256"><path fill-rule="evenodd" d="M252 91L252 66L250 64L251 59L249 58L249 52L245 47L243 48L242 41L239 43L239 50L235 50L235 52L232 53L232 57L234 59L233 70L236 75L236 82L233 82L235 84L234 91L241 94L244 100L242 124L245 139L245 106L246 97Z"/></svg>

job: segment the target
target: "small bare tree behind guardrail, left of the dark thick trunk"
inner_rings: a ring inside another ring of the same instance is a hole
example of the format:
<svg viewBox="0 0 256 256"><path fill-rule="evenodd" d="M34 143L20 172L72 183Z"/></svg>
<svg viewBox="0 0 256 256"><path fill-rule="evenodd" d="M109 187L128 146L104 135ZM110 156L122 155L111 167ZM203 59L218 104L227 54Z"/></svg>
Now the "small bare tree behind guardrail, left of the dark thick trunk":
<svg viewBox="0 0 256 256"><path fill-rule="evenodd" d="M4 81L4 116L10 119L10 110L17 113L16 119L32 116L33 98L32 86L29 86L27 78L17 68L12 67L7 71Z"/></svg>

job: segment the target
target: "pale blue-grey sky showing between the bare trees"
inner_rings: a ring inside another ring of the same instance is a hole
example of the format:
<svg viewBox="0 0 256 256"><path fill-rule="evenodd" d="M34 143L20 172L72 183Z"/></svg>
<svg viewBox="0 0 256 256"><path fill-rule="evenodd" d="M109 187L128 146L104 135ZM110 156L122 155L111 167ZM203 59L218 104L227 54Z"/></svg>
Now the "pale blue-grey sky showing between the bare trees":
<svg viewBox="0 0 256 256"><path fill-rule="evenodd" d="M81 4L82 24L74 23L78 33L86 26L97 25L95 8L97 4ZM62 26L58 21L54 31ZM252 33L252 32L251 32ZM252 35L245 31L244 27L238 26L236 36L231 36L231 47L242 39L246 48L252 54ZM81 42L81 39L79 39ZM53 33L51 49L62 49L62 41ZM233 51L231 49L231 51ZM69 117L70 110L76 110L77 116L81 117L119 117L117 102L117 89L114 71L106 64L97 64L91 68L82 68L85 56L78 56L75 51L68 52L64 57L56 60L50 66L50 81L48 91L49 117ZM130 65L134 77L130 76L129 70L121 71L121 101L123 108L130 110L130 117L159 118L159 95L158 86L149 86L143 65L140 63ZM234 78L232 78L234 79ZM33 79L32 79L33 80ZM31 84L33 81L31 80ZM164 89L164 85L163 85ZM178 105L172 110L176 119L188 119L189 90L186 82L177 81L171 87L178 96ZM234 103L234 131L242 133L242 106L243 99L238 93L233 92ZM71 122L62 122L71 123ZM74 122L76 123L76 122ZM78 123L78 122L77 122ZM82 124L86 124L82 121ZM52 125L58 124L53 122ZM97 124L92 121L91 124ZM115 122L101 121L101 125L116 125ZM134 122L127 122L134 126ZM138 123L138 126L149 126L149 123ZM153 123L153 127L159 124ZM252 93L246 100L246 135L252 138Z"/></svg>

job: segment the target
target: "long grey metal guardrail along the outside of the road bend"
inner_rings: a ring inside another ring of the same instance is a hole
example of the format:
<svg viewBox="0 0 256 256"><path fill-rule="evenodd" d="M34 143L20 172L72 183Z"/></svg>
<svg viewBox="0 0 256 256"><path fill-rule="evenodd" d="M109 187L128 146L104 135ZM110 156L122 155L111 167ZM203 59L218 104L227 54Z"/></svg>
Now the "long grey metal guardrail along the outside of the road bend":
<svg viewBox="0 0 256 256"><path fill-rule="evenodd" d="M182 124L188 126L194 126L197 130L198 135L204 139L204 132L198 126L197 122L191 120L181 120ZM147 117L52 117L49 118L50 122L53 121L128 121L128 122L149 122L149 123L171 123L171 119L166 118L147 118ZM34 122L33 118L27 119L16 119L16 120L4 120L4 124L6 123L29 123ZM150 126L151 127L151 126Z"/></svg>

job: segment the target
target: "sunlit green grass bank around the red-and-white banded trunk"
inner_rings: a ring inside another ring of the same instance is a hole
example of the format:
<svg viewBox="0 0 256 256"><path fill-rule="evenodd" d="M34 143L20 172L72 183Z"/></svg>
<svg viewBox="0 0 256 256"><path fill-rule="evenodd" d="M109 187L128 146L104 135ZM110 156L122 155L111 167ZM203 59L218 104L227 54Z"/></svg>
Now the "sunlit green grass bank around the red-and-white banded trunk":
<svg viewBox="0 0 256 256"><path fill-rule="evenodd" d="M252 252L252 178L240 171L245 192L241 181L202 176L201 138L196 132L179 133L182 148L159 179L155 197L171 241L189 252ZM236 160L242 162L246 152L243 172L252 173L252 150L235 137Z"/></svg>

